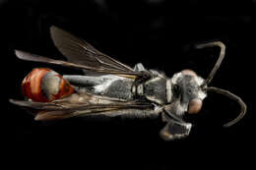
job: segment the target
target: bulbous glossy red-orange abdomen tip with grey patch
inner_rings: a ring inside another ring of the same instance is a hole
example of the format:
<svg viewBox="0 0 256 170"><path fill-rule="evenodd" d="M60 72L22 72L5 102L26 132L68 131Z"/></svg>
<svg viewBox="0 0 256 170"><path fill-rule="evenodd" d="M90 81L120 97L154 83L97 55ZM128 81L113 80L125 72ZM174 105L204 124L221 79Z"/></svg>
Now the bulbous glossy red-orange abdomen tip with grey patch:
<svg viewBox="0 0 256 170"><path fill-rule="evenodd" d="M32 101L48 102L73 93L74 88L58 73L36 68L24 79L22 90Z"/></svg>

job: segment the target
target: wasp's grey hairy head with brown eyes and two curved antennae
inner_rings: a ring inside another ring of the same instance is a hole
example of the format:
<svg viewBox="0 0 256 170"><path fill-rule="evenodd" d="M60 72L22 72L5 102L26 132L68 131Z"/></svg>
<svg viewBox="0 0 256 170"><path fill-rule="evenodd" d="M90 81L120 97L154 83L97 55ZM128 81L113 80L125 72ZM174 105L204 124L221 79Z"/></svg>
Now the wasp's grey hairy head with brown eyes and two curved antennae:
<svg viewBox="0 0 256 170"><path fill-rule="evenodd" d="M181 110L180 112L182 113L187 111L190 114L198 113L200 111L203 105L203 99L207 96L206 91L217 92L229 97L230 99L233 99L240 105L241 111L238 117L224 124L224 127L229 127L237 123L245 115L246 104L240 97L227 90L214 86L208 86L212 82L216 72L223 62L225 46L221 41L196 45L196 48L198 49L214 46L220 47L221 53L208 78L204 80L191 70L183 70L171 78L172 94L174 96L173 98L176 101L179 101L180 107L178 110Z"/></svg>

